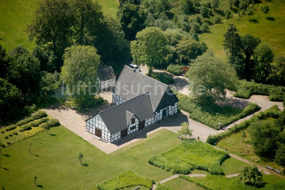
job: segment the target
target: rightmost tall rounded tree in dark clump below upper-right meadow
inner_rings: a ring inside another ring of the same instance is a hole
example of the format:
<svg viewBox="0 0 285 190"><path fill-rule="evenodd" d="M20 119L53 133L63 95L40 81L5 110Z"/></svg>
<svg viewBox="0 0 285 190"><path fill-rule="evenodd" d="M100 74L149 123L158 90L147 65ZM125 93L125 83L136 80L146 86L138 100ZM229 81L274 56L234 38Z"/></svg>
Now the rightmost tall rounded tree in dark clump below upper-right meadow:
<svg viewBox="0 0 285 190"><path fill-rule="evenodd" d="M266 82L266 78L269 76L274 59L274 52L265 43L260 43L253 53L253 58L255 61L255 73L254 78L259 82Z"/></svg>

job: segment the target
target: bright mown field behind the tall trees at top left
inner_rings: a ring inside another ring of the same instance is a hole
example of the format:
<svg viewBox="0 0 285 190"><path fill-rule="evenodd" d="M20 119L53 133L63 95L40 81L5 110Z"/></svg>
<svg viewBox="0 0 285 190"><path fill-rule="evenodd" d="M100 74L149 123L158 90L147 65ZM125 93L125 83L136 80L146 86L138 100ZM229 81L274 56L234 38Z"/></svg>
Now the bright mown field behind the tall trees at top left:
<svg viewBox="0 0 285 190"><path fill-rule="evenodd" d="M34 17L40 0L0 0L0 44L7 51L18 45L32 50L36 45L28 41L26 27ZM98 0L106 15L115 16L118 0Z"/></svg>

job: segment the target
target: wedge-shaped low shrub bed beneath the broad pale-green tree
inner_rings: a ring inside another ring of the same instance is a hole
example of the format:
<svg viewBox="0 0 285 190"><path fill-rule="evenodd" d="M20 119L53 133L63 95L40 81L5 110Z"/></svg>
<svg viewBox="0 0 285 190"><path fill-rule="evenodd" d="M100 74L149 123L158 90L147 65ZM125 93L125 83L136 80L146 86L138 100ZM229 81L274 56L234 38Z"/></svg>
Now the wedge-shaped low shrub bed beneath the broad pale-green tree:
<svg viewBox="0 0 285 190"><path fill-rule="evenodd" d="M187 95L173 90L179 99L178 108L189 113L189 117L215 130L219 130L219 122L229 125L245 116L260 110L257 104L249 103L245 109L231 106L200 105Z"/></svg>

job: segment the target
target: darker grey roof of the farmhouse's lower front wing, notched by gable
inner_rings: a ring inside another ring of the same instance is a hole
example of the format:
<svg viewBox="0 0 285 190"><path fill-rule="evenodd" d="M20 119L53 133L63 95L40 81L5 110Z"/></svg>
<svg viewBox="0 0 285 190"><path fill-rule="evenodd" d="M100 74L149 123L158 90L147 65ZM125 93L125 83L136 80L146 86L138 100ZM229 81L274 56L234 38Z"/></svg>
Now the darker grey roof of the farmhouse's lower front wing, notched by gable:
<svg viewBox="0 0 285 190"><path fill-rule="evenodd" d="M129 112L128 114L127 111ZM108 108L99 112L99 115L110 133L117 133L127 128L128 122L131 120L129 117L133 117L133 115L141 121L154 116L150 93L146 92L119 105Z"/></svg>

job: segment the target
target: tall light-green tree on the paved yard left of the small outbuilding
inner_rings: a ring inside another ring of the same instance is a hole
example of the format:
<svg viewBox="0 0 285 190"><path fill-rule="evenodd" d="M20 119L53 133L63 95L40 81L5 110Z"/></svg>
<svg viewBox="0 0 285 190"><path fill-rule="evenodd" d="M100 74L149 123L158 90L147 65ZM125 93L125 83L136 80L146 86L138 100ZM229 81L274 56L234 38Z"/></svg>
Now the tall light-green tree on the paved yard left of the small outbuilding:
<svg viewBox="0 0 285 190"><path fill-rule="evenodd" d="M71 104L78 108L96 104L91 87L98 87L100 56L97 50L91 46L71 46L66 48L63 60L60 79L68 86Z"/></svg>

